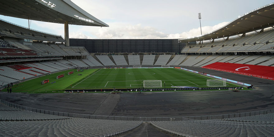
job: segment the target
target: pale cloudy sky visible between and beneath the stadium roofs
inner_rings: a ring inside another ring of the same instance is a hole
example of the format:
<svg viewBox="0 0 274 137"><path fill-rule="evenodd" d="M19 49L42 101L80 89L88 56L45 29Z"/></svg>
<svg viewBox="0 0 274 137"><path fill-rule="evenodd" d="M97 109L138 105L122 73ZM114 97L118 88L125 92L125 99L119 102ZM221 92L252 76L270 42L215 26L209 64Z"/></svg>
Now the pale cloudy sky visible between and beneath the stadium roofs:
<svg viewBox="0 0 274 137"><path fill-rule="evenodd" d="M182 39L214 31L271 0L71 0L109 27L69 25L79 39ZM28 20L0 15L28 27ZM31 29L64 37L64 24L31 21Z"/></svg>

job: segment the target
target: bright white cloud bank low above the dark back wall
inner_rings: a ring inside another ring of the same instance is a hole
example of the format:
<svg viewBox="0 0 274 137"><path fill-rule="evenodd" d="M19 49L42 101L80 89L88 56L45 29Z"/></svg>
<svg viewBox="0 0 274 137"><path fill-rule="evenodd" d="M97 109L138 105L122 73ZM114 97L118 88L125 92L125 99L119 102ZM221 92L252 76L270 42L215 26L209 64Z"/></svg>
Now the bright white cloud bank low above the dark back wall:
<svg viewBox="0 0 274 137"><path fill-rule="evenodd" d="M229 22L222 22L214 26L203 26L203 34L214 31ZM200 27L193 28L189 31L176 34L167 34L151 26L142 26L142 24L130 25L126 23L110 23L110 27L91 27L83 26L83 32L96 36L97 39L181 39L191 36L201 35ZM80 38L81 35L74 35ZM82 36L88 37L88 36Z"/></svg>

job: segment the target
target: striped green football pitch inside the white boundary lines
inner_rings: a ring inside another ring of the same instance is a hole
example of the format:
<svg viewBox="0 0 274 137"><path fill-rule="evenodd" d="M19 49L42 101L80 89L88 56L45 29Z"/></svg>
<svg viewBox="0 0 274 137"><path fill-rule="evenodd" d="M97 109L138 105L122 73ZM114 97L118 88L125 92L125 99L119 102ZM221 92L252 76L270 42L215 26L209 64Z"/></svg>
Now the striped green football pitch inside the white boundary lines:
<svg viewBox="0 0 274 137"><path fill-rule="evenodd" d="M214 78L175 68L98 69L67 89L142 88L144 80L161 80L166 88L207 87L207 79ZM236 85L227 83L227 86Z"/></svg>

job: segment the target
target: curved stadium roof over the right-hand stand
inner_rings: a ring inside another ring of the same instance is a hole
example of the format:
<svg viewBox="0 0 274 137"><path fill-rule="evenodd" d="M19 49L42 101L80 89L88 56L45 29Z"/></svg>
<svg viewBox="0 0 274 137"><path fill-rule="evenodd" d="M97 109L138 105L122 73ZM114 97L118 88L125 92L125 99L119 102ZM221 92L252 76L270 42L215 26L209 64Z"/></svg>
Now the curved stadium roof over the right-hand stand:
<svg viewBox="0 0 274 137"><path fill-rule="evenodd" d="M274 26L274 4L270 3L265 6L254 9L250 12L244 13L236 18L234 21L229 22L227 25L195 37L186 39L179 39L182 42L194 42L201 40L213 40L222 37L239 35L251 31L260 30L267 27Z"/></svg>

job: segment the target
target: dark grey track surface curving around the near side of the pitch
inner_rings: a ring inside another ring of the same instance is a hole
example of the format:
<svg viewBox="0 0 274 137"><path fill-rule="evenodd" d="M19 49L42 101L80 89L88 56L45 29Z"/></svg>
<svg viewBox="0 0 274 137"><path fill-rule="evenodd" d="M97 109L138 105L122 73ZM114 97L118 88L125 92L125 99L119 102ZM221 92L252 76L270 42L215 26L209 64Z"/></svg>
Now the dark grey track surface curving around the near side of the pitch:
<svg viewBox="0 0 274 137"><path fill-rule="evenodd" d="M255 90L21 94L0 92L0 98L39 109L112 116L198 116L274 108L274 81L210 69L183 67L254 85ZM3 90L5 91L5 89Z"/></svg>

